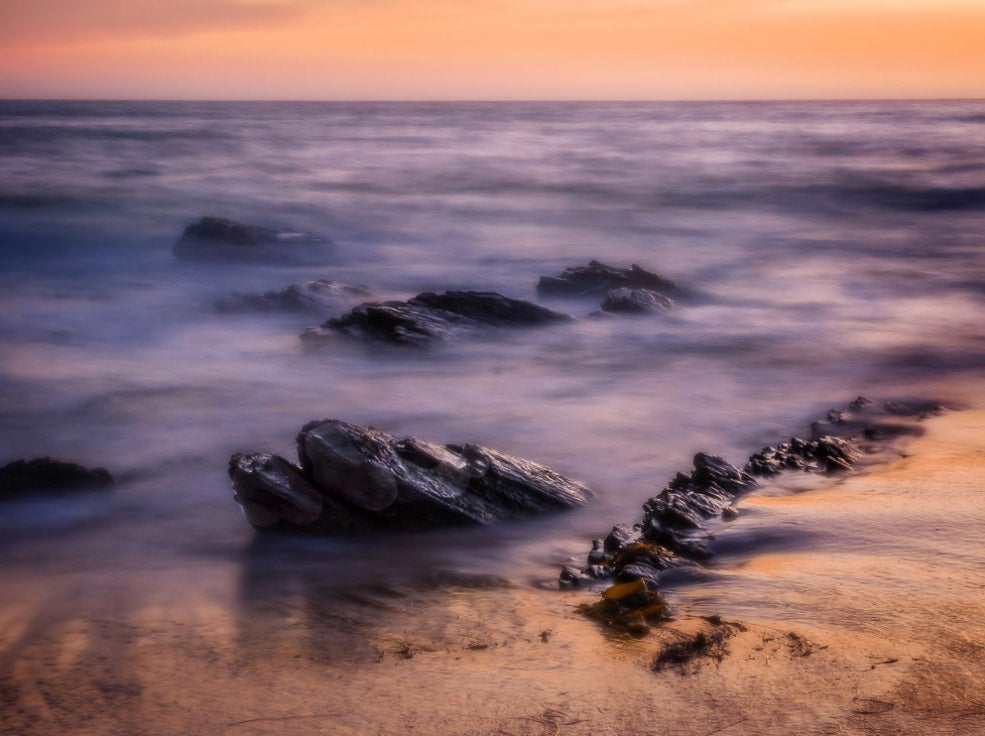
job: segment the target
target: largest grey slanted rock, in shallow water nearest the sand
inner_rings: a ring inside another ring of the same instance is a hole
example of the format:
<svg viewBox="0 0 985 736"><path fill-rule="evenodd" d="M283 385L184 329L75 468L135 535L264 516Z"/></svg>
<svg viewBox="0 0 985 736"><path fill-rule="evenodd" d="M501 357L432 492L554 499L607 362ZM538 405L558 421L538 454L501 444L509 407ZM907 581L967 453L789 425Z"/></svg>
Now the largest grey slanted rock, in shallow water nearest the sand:
<svg viewBox="0 0 985 736"><path fill-rule="evenodd" d="M398 439L337 419L305 425L297 445L300 465L264 453L230 459L253 526L332 534L491 524L593 497L544 465L487 447Z"/></svg>

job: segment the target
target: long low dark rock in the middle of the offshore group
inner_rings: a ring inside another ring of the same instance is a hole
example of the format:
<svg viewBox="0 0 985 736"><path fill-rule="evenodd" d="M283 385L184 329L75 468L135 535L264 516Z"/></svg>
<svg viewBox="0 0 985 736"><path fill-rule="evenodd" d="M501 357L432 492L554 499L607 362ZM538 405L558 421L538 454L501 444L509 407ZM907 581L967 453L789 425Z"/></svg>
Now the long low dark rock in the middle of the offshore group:
<svg viewBox="0 0 985 736"><path fill-rule="evenodd" d="M366 340L421 345L481 327L527 327L571 319L537 304L481 291L424 292L405 302L360 304L351 312L301 335L337 334Z"/></svg>

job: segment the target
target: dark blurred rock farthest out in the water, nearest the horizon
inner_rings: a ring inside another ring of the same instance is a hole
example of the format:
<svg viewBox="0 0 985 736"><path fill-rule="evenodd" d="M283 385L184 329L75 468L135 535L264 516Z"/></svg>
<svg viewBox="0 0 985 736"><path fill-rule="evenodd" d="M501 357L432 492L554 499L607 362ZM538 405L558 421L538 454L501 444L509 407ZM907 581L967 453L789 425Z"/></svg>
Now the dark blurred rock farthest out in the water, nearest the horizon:
<svg viewBox="0 0 985 736"><path fill-rule="evenodd" d="M292 260L330 245L327 238L311 233L203 217L185 228L173 250L184 260Z"/></svg>

